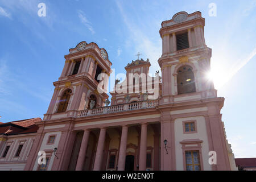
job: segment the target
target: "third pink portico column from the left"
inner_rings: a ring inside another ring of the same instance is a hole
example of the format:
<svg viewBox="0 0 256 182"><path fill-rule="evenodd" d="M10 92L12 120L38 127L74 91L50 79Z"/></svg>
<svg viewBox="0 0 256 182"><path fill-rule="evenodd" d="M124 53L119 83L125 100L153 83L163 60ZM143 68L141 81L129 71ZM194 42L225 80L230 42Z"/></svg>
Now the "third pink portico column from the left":
<svg viewBox="0 0 256 182"><path fill-rule="evenodd" d="M118 171L125 170L127 134L128 134L128 126L125 125L122 127L122 137L121 137L119 159L118 159Z"/></svg>

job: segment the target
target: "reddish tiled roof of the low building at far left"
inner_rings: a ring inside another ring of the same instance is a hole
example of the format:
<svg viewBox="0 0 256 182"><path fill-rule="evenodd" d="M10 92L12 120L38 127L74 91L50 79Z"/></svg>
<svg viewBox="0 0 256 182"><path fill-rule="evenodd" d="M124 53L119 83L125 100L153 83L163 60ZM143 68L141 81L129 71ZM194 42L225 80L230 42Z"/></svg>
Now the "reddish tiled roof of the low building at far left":
<svg viewBox="0 0 256 182"><path fill-rule="evenodd" d="M11 121L0 123L0 134L18 135L25 133L36 133L38 126L35 122L42 121L41 118L23 119L20 121Z"/></svg>

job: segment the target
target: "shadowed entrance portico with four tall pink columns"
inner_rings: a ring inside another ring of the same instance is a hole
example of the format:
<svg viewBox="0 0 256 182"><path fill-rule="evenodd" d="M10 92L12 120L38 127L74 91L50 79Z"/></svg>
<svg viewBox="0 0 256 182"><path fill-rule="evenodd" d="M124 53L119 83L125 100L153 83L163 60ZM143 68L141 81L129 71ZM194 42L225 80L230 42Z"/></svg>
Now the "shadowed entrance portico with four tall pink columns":
<svg viewBox="0 0 256 182"><path fill-rule="evenodd" d="M159 135L160 123L139 123L117 127L102 127L101 129L84 129L77 135L70 165L77 160L73 169L79 170L158 170L159 169ZM91 146L95 135L97 144L93 151ZM80 140L80 142L79 142ZM81 144L80 144L81 143ZM77 148L80 150L77 150ZM92 154L90 154L92 153ZM155 155L156 154L156 155ZM89 161L93 161L88 166ZM75 168L74 168L75 167ZM72 170L72 167L69 167Z"/></svg>

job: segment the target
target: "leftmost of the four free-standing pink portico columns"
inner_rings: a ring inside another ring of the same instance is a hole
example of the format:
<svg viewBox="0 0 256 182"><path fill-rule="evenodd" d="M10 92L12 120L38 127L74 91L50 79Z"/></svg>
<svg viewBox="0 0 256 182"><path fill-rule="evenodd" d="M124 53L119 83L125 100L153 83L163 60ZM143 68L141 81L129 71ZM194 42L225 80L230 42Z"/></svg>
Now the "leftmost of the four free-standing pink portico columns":
<svg viewBox="0 0 256 182"><path fill-rule="evenodd" d="M84 135L82 136L82 143L79 151L79 158L77 159L76 171L82 171L84 167L84 159L86 155L86 150L88 146L90 131L84 130Z"/></svg>

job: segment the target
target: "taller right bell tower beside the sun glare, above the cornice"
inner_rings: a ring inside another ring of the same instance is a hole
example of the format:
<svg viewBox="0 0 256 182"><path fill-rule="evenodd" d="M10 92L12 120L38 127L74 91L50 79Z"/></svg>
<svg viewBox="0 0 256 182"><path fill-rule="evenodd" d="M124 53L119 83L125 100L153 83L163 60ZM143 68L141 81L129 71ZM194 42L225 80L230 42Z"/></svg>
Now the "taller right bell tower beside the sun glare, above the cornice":
<svg viewBox="0 0 256 182"><path fill-rule="evenodd" d="M172 96L201 92L201 97L217 97L213 82L207 79L212 49L205 45L204 18L201 13L181 11L171 20L162 22L162 96L173 102Z"/></svg>

